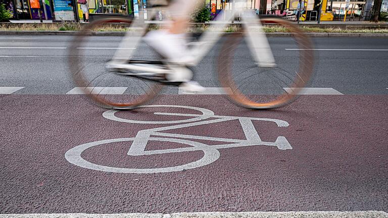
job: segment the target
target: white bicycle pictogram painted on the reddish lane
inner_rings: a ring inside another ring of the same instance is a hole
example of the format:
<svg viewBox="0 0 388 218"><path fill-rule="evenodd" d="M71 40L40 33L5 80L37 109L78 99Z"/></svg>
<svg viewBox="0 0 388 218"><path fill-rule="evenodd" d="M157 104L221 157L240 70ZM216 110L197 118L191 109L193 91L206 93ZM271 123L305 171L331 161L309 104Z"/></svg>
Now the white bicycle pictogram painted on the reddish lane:
<svg viewBox="0 0 388 218"><path fill-rule="evenodd" d="M262 141L252 122L252 121L270 121L270 122L276 123L278 127L287 127L289 124L283 120L267 119L267 118L218 116L218 115L215 115L213 111L210 111L208 109L201 108L201 107L192 107L192 106L144 105L140 107L175 107L175 108L196 110L201 112L202 114L154 113L155 115L164 115L164 116L171 116L171 117L174 117L174 116L188 117L188 119L172 120L172 121L136 121L136 120L128 120L128 119L116 117L115 113L119 111L109 110L104 112L103 116L113 121L124 122L124 123L134 123L134 124L173 124L173 125L152 128L152 129L144 129L139 131L136 134L136 136L132 138L107 139L102 141L93 141L86 144L81 144L68 150L65 154L66 159L70 163L73 163L76 166L86 168L86 169L91 169L91 170L112 172L112 173L149 174L149 173L177 172L177 171L190 170L190 169L195 169L195 168L209 165L210 163L216 161L220 157L219 149L223 149L223 148L266 145L266 146L276 146L280 150L293 149L284 136L278 136L275 142ZM228 122L233 120L239 121L241 127L243 128L246 139L241 140L241 139L217 138L217 137L161 132L166 130L181 129L181 128L187 128L187 127L193 127L193 126L201 126L206 124L215 124L215 123ZM208 145L201 142L192 141L190 139L218 141L218 142L225 142L225 143L217 144L217 145ZM132 144L129 145L130 148L127 153L128 156L142 156L142 155L153 155L153 154L189 152L189 151L203 151L204 155L199 160L189 162L184 165L165 167L165 168L150 168L150 169L117 168L117 167L102 166L102 165L97 165L95 163L89 162L81 157L82 152L84 152L86 149L89 149L95 146L114 143L114 142L130 142L130 141L132 141ZM186 145L189 145L190 147L161 149L161 150L145 150L146 145L149 141L175 142L180 144L186 144Z"/></svg>

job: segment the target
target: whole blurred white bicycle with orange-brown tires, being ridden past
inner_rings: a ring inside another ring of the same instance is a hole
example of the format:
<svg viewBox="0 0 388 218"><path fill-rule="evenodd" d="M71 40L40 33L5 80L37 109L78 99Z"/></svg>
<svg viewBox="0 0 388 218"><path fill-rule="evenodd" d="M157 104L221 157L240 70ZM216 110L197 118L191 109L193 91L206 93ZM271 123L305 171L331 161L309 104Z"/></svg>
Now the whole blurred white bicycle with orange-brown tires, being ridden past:
<svg viewBox="0 0 388 218"><path fill-rule="evenodd" d="M259 18L254 12L247 11L241 1L235 0L234 3L232 13L221 12L199 40L192 43L190 53L195 59L187 61L185 65L198 65L221 39L222 46L217 59L218 79L232 101L244 107L258 109L274 108L291 102L307 85L313 72L314 55L310 38L289 21L273 17ZM154 5L148 9L148 17L155 18L163 7L166 5ZM242 19L242 32L222 37L222 30L230 24L220 18L233 21L238 14ZM95 59L103 60L94 60L94 65L90 66L87 63L90 59L86 57L87 46L92 44L89 41L93 39L92 31L112 23L137 28L140 36L148 32L150 24L128 17L102 17L85 26L75 36L70 46L69 67L76 85L81 87L89 99L106 108L131 109L151 100L163 85L179 85L167 81L166 75L177 68L184 68L166 62L163 57L153 57L155 60L150 60L150 55L142 52L152 49L148 49L147 45L141 43L141 37L133 36L132 32L126 33L117 48L112 47L111 50L115 50L112 57L96 57ZM295 53L290 57L277 54L279 50L276 47L281 44L275 44L271 49L263 32L263 24L287 28L295 42L291 46L297 48L293 51ZM243 36L246 36L246 40L243 40ZM238 56L239 52L246 52L244 46L247 45L244 43L248 44L247 49L250 49L253 59L249 61L252 65L248 67L245 64L247 61ZM106 54L110 55L111 50L107 49ZM274 52L277 56L273 55ZM145 57L136 59L134 56ZM280 58L287 58L293 63L285 65L286 62L279 60ZM119 91L110 92L112 87Z"/></svg>

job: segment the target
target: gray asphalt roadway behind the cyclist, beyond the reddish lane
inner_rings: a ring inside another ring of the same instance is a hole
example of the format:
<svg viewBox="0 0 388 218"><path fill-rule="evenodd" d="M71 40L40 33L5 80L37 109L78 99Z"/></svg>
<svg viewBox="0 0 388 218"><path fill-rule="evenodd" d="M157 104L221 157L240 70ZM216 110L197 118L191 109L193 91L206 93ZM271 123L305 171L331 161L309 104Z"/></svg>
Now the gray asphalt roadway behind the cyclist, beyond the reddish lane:
<svg viewBox="0 0 388 218"><path fill-rule="evenodd" d="M87 47L115 47L121 37L90 37ZM64 94L74 85L69 77L67 57L72 36L1 36L0 86L25 87L15 94ZM274 56L284 68L294 68L298 51L289 38L269 38ZM343 94L387 94L388 40L386 38L314 38L315 75L311 87L333 88ZM206 87L218 87L215 76L218 43L195 68L195 79ZM23 47L23 48L15 48ZM236 49L238 66L252 64L247 45ZM384 50L385 49L385 50ZM113 55L112 49L85 49L81 56L87 63L102 63ZM136 49L136 56L156 57L146 45ZM90 66L89 65L89 66ZM165 93L176 94L170 87Z"/></svg>

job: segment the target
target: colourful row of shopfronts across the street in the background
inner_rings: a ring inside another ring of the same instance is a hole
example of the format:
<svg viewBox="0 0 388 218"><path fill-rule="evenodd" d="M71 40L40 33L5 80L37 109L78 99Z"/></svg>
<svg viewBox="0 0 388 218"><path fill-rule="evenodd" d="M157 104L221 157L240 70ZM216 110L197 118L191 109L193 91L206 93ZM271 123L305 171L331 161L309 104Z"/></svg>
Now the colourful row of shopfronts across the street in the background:
<svg viewBox="0 0 388 218"><path fill-rule="evenodd" d="M187 0L192 1L192 0ZM269 14L295 19L299 11L299 0L243 0L246 8L257 14ZM147 0L0 0L13 12L12 19L39 20L39 10L43 20L82 21L85 7L89 16L101 14L121 14L138 17L144 14L147 19ZM39 2L40 9L33 7ZM221 11L231 13L232 1L204 0L216 17ZM367 20L371 15L373 0L302 0L301 20L316 21L322 3L321 21L347 19ZM348 7L347 7L348 6ZM383 0L382 11L388 11L388 0Z"/></svg>

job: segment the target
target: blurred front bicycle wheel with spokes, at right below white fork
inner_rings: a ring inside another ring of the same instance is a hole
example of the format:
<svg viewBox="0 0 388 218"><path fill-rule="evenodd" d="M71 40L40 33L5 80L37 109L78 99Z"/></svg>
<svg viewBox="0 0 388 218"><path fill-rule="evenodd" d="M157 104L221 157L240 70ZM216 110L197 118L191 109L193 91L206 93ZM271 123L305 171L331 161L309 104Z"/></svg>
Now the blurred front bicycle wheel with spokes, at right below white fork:
<svg viewBox="0 0 388 218"><path fill-rule="evenodd" d="M294 100L313 73L312 42L296 25L279 18L262 18L277 24L292 37L268 38L276 67L259 67L246 56L250 49L244 34L231 34L220 50L218 76L222 87L237 104L257 109L274 108Z"/></svg>

